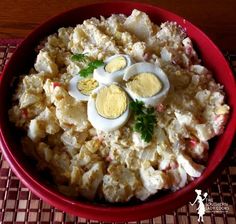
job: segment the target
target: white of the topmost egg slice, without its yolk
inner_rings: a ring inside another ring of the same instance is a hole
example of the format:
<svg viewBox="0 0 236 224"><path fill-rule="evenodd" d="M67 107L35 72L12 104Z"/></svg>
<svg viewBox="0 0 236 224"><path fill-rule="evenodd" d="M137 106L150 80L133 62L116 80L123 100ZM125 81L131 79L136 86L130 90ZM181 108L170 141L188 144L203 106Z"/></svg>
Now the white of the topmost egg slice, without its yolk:
<svg viewBox="0 0 236 224"><path fill-rule="evenodd" d="M118 70L113 73L106 72L105 67L106 65L113 60L116 57L124 57L126 60L126 66L125 68ZM132 64L132 60L128 55L125 54L116 54L104 61L105 66L101 66L94 70L93 77L96 79L99 83L102 83L104 85L111 84L113 82L121 82L123 79L123 75L125 70Z"/></svg>

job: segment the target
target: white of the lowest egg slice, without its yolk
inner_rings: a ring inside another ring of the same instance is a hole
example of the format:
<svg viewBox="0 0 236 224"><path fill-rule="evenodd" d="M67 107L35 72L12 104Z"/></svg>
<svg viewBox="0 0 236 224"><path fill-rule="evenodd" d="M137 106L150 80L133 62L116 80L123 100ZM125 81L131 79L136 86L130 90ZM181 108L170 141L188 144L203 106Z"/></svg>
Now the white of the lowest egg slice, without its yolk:
<svg viewBox="0 0 236 224"><path fill-rule="evenodd" d="M87 104L87 115L88 115L88 120L95 129L99 131L110 132L119 129L128 121L130 115L130 109L129 109L129 102L127 102L127 108L125 112L121 114L119 117L114 119L109 119L101 116L96 109L96 98L94 97L94 95L97 94L104 87L105 86L98 87L90 95Z"/></svg>

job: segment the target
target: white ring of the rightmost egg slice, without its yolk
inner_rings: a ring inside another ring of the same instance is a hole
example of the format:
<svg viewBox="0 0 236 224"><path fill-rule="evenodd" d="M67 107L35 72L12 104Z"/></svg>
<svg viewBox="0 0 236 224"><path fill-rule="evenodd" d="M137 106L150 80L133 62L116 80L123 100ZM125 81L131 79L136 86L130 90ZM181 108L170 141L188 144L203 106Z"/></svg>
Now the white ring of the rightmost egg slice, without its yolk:
<svg viewBox="0 0 236 224"><path fill-rule="evenodd" d="M162 83L162 89L157 94L151 97L140 97L136 93L134 93L130 88L127 88L127 86L125 90L128 92L128 94L133 100L143 101L146 106L156 106L167 96L168 91L170 89L169 80L160 67L148 62L139 62L131 65L129 68L126 69L123 79L124 81L129 81L131 77L143 72L149 72L156 75L156 77Z"/></svg>

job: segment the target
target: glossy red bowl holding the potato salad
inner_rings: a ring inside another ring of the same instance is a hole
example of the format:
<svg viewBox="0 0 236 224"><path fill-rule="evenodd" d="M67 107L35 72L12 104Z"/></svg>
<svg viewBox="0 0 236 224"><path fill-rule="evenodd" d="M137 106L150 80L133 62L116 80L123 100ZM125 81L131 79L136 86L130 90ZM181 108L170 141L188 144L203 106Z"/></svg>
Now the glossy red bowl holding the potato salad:
<svg viewBox="0 0 236 224"><path fill-rule="evenodd" d="M39 44L39 41L47 35L56 32L59 27L75 26L77 23L81 23L84 19L92 16L99 17L103 15L106 17L112 13L129 15L135 8L146 12L156 24L171 20L176 21L186 29L200 58L203 60L203 64L213 72L215 79L224 85L227 103L231 107L229 122L224 134L215 140L211 148L207 167L202 176L183 189L139 204L111 205L75 201L48 186L34 171L34 167L26 161L19 147L19 141L16 139L17 133L8 121L7 111L10 106L11 94L14 91L11 83L14 76L27 72L33 65L36 58L34 49ZM172 211L192 200L195 194L194 189L206 188L217 175L223 159L226 158L235 133L235 92L235 80L224 56L201 30L187 20L156 6L141 3L112 2L81 6L53 17L35 29L20 44L5 67L0 82L0 102L2 105L0 110L1 148L10 167L20 180L33 193L58 209L81 217L102 221L147 219Z"/></svg>

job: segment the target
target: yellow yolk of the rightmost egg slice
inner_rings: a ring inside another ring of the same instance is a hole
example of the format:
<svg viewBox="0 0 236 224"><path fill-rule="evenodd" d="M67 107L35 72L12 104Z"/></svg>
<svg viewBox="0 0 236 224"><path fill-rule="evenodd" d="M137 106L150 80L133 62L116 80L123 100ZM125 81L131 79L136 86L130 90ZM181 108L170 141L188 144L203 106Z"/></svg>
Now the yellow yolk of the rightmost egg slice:
<svg viewBox="0 0 236 224"><path fill-rule="evenodd" d="M151 97L157 94L162 89L162 83L153 73L139 73L128 82L127 88L140 97Z"/></svg>

